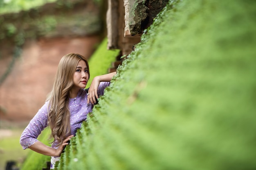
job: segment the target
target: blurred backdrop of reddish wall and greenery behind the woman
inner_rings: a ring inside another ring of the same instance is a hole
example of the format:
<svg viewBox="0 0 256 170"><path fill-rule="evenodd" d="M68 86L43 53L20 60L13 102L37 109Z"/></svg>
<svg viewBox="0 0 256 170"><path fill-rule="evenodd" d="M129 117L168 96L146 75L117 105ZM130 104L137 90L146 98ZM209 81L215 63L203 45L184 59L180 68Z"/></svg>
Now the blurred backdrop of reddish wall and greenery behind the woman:
<svg viewBox="0 0 256 170"><path fill-rule="evenodd" d="M58 62L90 59L106 36L101 0L0 0L0 170L22 163L20 135L51 91Z"/></svg>

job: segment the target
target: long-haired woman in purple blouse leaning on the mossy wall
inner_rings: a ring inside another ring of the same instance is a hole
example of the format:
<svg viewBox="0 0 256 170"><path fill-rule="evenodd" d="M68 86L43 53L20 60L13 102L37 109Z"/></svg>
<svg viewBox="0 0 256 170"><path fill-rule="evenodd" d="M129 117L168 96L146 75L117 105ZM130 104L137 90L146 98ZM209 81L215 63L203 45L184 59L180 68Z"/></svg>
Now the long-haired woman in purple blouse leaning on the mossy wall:
<svg viewBox="0 0 256 170"><path fill-rule="evenodd" d="M93 104L103 95L115 74L96 76L87 91L85 87L90 78L88 61L80 54L65 55L58 65L52 92L20 137L22 148L51 156L51 169L54 169L64 147L86 120ZM52 132L52 147L37 140L47 126Z"/></svg>

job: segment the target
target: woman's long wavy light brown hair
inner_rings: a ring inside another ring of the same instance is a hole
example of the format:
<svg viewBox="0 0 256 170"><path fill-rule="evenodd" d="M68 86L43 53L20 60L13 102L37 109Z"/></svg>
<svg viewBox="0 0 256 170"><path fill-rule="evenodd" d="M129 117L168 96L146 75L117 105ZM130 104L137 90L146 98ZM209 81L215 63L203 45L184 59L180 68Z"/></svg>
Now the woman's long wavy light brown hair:
<svg viewBox="0 0 256 170"><path fill-rule="evenodd" d="M62 57L58 65L52 92L47 97L47 101L49 100L48 124L52 131L51 137L59 142L58 145L70 135L70 110L68 108L70 89L74 84L73 76L76 66L81 60L86 63L90 78L87 59L80 54L67 54Z"/></svg>

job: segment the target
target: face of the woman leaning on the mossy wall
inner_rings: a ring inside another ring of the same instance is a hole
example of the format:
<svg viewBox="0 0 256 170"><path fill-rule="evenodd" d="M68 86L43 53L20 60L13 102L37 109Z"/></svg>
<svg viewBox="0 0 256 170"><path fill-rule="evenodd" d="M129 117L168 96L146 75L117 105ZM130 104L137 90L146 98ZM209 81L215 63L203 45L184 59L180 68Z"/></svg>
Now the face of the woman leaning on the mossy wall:
<svg viewBox="0 0 256 170"><path fill-rule="evenodd" d="M72 89L85 88L89 79L88 67L85 61L80 60L76 66L76 71L73 76L74 85Z"/></svg>

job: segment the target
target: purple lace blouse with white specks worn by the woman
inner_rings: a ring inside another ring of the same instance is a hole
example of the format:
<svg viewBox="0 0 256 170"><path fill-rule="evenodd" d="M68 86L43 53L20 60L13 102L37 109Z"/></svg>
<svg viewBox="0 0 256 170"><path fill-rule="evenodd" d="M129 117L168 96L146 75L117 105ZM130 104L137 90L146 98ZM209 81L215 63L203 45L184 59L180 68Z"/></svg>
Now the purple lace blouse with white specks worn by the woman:
<svg viewBox="0 0 256 170"><path fill-rule="evenodd" d="M101 82L98 87L98 96L102 96L104 94L104 89L109 85L110 82ZM49 101L45 102L43 107L38 110L34 118L29 122L21 134L20 144L23 149L26 149L37 142L38 135L40 135L41 131L48 126L48 104ZM85 89L81 89L76 98L70 98L69 108L71 135L76 134L76 130L79 129L82 122L86 120L87 114L92 112L92 107L93 105L91 103L87 106L87 92ZM52 148L57 148L57 144L58 141L55 141L52 144Z"/></svg>

